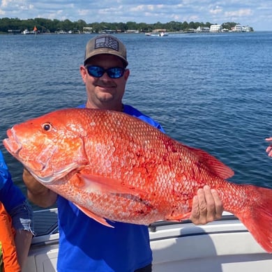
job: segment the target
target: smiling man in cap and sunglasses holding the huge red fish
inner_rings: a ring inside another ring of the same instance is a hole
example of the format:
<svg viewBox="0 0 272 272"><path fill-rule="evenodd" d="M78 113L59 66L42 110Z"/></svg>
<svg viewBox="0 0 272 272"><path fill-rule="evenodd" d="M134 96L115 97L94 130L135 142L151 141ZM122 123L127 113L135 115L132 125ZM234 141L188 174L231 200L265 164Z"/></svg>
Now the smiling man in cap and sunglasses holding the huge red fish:
<svg viewBox="0 0 272 272"><path fill-rule="evenodd" d="M123 105L122 98L130 70L126 68L126 47L114 36L97 36L86 45L84 65L80 66L86 86L85 105L93 109L111 109L137 116L163 130L159 123L137 109ZM105 227L85 216L71 202L43 187L24 170L29 199L47 207L57 202L59 208L59 272L68 271L151 271L152 252L148 228L114 222ZM215 190L199 190L194 198L191 220L204 224L222 214L222 203Z"/></svg>

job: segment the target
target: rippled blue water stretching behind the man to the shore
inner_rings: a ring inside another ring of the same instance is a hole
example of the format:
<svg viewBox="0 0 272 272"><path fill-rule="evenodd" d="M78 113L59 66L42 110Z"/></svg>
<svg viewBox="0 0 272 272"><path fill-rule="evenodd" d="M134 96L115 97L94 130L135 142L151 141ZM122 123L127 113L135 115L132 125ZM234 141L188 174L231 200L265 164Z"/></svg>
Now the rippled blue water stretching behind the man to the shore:
<svg viewBox="0 0 272 272"><path fill-rule="evenodd" d="M15 123L85 102L79 67L91 37L0 36L1 139ZM272 188L272 32L118 37L130 68L124 103L232 167L231 181ZM25 191L22 165L0 147Z"/></svg>

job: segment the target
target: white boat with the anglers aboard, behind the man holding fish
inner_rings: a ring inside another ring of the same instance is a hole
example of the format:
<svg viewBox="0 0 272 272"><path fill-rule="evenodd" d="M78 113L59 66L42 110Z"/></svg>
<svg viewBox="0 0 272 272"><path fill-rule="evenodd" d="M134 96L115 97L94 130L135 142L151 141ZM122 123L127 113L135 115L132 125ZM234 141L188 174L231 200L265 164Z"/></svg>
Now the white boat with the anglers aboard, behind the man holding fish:
<svg viewBox="0 0 272 272"><path fill-rule="evenodd" d="M34 212L35 232L22 272L55 272L59 250L57 209ZM149 226L153 272L270 272L265 252L232 213L206 225L158 221Z"/></svg>

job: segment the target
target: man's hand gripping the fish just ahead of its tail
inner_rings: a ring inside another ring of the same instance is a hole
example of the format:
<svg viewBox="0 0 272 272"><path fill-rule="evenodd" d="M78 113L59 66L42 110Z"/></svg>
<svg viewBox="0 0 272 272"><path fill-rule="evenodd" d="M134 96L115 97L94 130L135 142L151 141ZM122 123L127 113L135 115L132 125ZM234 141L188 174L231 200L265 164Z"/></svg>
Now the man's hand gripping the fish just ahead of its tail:
<svg viewBox="0 0 272 272"><path fill-rule="evenodd" d="M223 205L218 192L204 186L197 191L192 199L192 213L190 220L195 225L204 225L216 219L220 219L223 212Z"/></svg>

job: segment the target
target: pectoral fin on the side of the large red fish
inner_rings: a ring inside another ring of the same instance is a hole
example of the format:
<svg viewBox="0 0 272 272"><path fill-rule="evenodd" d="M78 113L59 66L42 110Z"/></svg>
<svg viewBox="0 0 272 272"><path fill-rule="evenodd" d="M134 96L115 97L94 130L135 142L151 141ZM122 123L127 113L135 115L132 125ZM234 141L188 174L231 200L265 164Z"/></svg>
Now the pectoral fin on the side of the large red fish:
<svg viewBox="0 0 272 272"><path fill-rule="evenodd" d="M81 181L80 189L87 192L100 192L108 194L126 194L137 197L144 197L147 192L130 186L129 184L123 184L116 179L110 179L103 176L96 176L91 174L78 174Z"/></svg>

